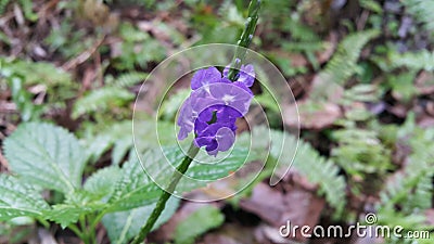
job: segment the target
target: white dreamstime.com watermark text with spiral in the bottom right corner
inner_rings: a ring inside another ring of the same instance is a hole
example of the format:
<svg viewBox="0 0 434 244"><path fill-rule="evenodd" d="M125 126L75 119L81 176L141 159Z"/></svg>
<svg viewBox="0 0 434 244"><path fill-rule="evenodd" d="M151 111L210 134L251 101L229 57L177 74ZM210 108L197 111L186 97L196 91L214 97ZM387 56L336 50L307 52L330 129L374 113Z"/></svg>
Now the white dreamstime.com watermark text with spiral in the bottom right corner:
<svg viewBox="0 0 434 244"><path fill-rule="evenodd" d="M356 224L349 227L342 226L293 226L290 220L286 224L279 228L279 233L282 237L350 237L353 234L359 237L398 237L398 239L430 239L430 231L404 231L404 227L381 226L376 224L375 214L369 213L365 216L366 224Z"/></svg>

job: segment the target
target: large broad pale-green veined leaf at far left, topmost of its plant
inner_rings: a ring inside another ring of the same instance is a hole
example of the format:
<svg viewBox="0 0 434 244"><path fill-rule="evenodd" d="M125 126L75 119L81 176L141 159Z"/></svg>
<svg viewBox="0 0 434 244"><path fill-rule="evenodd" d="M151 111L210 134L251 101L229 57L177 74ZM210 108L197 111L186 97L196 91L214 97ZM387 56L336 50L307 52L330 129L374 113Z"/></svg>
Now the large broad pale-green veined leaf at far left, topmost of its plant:
<svg viewBox="0 0 434 244"><path fill-rule="evenodd" d="M50 124L22 124L4 141L12 171L27 182L69 193L81 184L84 149L67 130Z"/></svg>

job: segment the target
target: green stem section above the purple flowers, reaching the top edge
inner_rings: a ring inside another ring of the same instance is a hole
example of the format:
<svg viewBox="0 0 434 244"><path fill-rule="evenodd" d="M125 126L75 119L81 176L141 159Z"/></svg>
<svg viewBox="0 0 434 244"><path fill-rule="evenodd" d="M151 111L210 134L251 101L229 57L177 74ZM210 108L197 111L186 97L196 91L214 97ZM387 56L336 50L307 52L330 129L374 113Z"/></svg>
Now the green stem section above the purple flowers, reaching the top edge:
<svg viewBox="0 0 434 244"><path fill-rule="evenodd" d="M256 23L259 18L260 0L252 0L248 4L248 17L245 22L245 28L241 38L237 43L235 54L229 69L228 78L232 81L237 80L238 73L240 70L241 64L244 62L246 48L252 42L253 35L255 34Z"/></svg>

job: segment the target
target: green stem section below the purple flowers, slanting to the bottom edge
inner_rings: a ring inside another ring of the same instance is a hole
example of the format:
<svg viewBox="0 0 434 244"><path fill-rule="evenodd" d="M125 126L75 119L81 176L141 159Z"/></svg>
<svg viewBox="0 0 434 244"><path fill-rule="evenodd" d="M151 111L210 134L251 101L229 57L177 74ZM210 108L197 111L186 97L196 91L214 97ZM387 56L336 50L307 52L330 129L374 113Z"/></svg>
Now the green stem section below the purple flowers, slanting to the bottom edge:
<svg viewBox="0 0 434 244"><path fill-rule="evenodd" d="M152 227L154 227L155 221L162 215L162 213L166 206L166 203L169 200L171 193L175 191L179 180L186 174L187 169L189 169L191 162L197 155L197 153L199 153L199 147L196 147L192 143L187 153L187 156L183 158L182 163L178 166L177 171L175 171L174 175L171 176L171 181L170 181L169 187L159 196L154 210L152 211L151 216L149 217L149 219L146 221L146 224L144 224L140 229L140 232L136 236L136 239L132 241L132 244L139 244L139 243L143 242L143 240L146 237L148 233L151 232Z"/></svg>

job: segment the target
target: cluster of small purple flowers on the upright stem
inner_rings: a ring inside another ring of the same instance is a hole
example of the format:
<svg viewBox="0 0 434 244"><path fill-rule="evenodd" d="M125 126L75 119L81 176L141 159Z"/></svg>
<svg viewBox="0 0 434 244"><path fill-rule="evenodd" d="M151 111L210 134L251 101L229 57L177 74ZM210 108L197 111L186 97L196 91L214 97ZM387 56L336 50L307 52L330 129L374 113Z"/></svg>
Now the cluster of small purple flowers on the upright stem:
<svg viewBox="0 0 434 244"><path fill-rule="evenodd" d="M222 76L215 67L197 70L191 80L192 92L178 117L178 139L186 139L194 130L195 145L206 146L206 152L214 156L232 146L235 120L247 113L253 98L253 65L242 65L234 82L227 78L228 73L228 67Z"/></svg>

